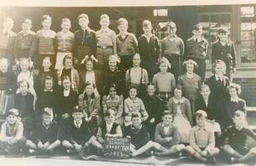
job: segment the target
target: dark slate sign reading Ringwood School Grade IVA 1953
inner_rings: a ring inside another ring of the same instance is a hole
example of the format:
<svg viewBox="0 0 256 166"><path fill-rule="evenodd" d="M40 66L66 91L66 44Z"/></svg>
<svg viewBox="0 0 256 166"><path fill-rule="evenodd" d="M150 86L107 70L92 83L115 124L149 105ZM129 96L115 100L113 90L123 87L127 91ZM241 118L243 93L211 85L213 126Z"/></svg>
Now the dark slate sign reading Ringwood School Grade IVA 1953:
<svg viewBox="0 0 256 166"><path fill-rule="evenodd" d="M130 138L107 137L104 140L104 157L129 158Z"/></svg>

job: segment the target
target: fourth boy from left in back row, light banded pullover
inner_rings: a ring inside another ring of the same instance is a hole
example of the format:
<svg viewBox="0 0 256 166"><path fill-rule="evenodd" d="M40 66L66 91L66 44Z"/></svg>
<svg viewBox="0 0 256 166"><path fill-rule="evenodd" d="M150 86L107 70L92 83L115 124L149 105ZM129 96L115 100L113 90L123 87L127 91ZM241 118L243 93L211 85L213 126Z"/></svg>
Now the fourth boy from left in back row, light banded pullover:
<svg viewBox="0 0 256 166"><path fill-rule="evenodd" d="M55 70L63 68L63 58L66 54L72 54L72 46L74 42L74 34L69 31L71 22L68 18L63 18L61 22L61 32L56 34L57 39L57 57Z"/></svg>

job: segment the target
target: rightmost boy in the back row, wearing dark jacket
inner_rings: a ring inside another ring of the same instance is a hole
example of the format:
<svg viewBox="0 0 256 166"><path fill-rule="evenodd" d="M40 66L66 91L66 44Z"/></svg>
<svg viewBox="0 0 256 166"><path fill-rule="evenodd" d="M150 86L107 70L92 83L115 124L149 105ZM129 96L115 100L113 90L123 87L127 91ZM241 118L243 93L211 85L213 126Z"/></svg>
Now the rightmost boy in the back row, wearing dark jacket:
<svg viewBox="0 0 256 166"><path fill-rule="evenodd" d="M228 40L228 28L218 29L219 40L212 44L212 63L215 60L223 60L226 64L226 76L232 82L232 74L236 72L236 52L234 43Z"/></svg>

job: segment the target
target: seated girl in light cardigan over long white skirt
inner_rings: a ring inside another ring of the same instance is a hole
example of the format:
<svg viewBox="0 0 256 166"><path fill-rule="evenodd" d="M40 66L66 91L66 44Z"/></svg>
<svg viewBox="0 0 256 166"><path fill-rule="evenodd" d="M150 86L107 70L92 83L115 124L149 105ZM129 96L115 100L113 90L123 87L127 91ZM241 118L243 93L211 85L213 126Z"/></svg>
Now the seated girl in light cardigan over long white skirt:
<svg viewBox="0 0 256 166"><path fill-rule="evenodd" d="M193 118L189 100L182 96L180 86L174 88L174 97L168 101L168 110L173 114L180 142L189 143L189 129L193 126Z"/></svg>

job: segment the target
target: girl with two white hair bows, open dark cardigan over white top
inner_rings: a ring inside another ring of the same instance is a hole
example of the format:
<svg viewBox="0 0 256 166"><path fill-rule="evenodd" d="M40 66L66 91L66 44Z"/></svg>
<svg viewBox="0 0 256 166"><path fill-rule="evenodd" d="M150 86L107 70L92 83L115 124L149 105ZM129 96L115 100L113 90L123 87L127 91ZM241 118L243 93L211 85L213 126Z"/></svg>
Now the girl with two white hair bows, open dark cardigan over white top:
<svg viewBox="0 0 256 166"><path fill-rule="evenodd" d="M81 70L81 86L80 86L80 93L84 92L85 84L87 81L92 81L94 85L96 85L96 88L94 89L94 93L97 95L102 94L102 75L100 71L94 70L94 67L96 66L96 63L98 60L94 58L94 56L86 56L81 64L84 65L84 69Z"/></svg>

